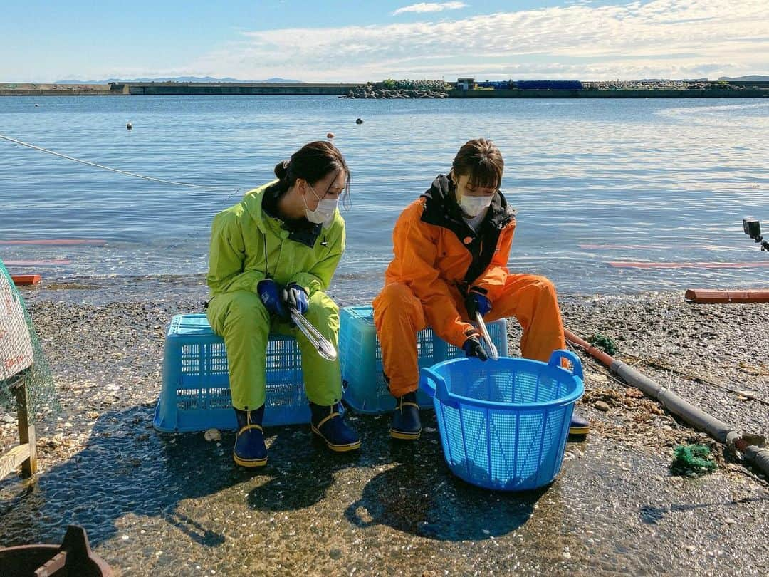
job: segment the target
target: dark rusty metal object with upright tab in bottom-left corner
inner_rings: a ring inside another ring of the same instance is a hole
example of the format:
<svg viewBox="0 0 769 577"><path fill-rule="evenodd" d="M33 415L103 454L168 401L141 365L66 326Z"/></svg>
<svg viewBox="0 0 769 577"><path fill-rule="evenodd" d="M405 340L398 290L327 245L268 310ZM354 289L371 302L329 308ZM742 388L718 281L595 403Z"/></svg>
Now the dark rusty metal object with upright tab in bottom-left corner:
<svg viewBox="0 0 769 577"><path fill-rule="evenodd" d="M85 529L69 525L62 545L0 549L3 577L112 577L112 568L91 551Z"/></svg>

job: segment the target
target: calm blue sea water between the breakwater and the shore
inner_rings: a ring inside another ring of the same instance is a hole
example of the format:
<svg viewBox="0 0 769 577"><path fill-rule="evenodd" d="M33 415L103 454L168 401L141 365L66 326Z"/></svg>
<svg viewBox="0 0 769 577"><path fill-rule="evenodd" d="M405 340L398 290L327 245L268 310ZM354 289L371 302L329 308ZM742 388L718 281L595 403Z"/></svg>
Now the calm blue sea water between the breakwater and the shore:
<svg viewBox="0 0 769 577"><path fill-rule="evenodd" d="M212 216L327 132L353 172L337 291L377 292L395 218L476 136L492 138L505 158L502 188L518 208L512 271L548 275L562 293L769 282L760 266L769 254L741 223L763 218L769 235L769 99L747 98L0 98L0 134L125 171L224 187L143 181L0 141L0 240L107 241L0 245L0 258L72 261L31 267L48 280L203 273ZM608 265L614 261L756 266L634 269Z"/></svg>

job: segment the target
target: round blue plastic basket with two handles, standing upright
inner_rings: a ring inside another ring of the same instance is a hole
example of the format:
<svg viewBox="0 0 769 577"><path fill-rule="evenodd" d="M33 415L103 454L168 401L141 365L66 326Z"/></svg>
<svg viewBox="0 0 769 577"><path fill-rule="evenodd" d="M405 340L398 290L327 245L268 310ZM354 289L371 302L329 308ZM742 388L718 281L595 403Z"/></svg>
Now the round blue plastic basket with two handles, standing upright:
<svg viewBox="0 0 769 577"><path fill-rule="evenodd" d="M568 359L572 371L561 368ZM421 369L433 397L449 469L486 489L547 485L561 470L574 403L584 392L577 355L554 351L545 364L455 359Z"/></svg>

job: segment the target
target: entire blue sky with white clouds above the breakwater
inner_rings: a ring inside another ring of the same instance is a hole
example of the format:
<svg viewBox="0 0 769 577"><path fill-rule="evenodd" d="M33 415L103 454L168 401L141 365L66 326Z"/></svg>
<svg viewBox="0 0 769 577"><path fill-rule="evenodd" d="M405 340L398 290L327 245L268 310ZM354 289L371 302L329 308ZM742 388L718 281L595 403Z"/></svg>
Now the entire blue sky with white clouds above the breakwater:
<svg viewBox="0 0 769 577"><path fill-rule="evenodd" d="M767 0L0 0L0 82L769 75Z"/></svg>

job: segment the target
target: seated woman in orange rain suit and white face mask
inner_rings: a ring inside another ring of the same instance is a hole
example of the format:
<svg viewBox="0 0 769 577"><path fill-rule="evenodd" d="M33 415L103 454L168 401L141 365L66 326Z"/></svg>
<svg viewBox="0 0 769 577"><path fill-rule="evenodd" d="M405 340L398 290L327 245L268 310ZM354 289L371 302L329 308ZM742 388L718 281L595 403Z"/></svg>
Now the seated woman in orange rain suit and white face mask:
<svg viewBox="0 0 769 577"><path fill-rule="evenodd" d="M553 283L538 275L508 271L515 211L499 191L504 161L493 142L478 138L459 149L448 175L398 218L394 258L384 288L374 300L374 322L384 375L397 401L390 434L418 439L417 332L430 326L468 356L487 359L470 319L487 322L514 316L524 329L521 352L548 362L565 349L564 328ZM574 415L572 434L588 432Z"/></svg>

